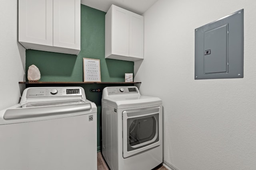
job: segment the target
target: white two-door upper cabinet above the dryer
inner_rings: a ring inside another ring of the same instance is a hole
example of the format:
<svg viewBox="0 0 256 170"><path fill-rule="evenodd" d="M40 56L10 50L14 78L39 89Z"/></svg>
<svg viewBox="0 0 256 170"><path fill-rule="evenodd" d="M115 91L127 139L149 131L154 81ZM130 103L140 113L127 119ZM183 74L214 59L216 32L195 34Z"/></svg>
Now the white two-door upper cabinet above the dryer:
<svg viewBox="0 0 256 170"><path fill-rule="evenodd" d="M105 58L144 58L144 17L112 5L105 16Z"/></svg>

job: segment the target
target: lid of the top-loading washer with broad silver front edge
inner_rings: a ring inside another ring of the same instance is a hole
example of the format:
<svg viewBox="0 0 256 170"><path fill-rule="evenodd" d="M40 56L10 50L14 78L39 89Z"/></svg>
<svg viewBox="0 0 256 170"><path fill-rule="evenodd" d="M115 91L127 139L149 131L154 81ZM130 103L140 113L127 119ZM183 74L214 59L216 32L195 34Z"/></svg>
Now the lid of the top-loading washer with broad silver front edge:
<svg viewBox="0 0 256 170"><path fill-rule="evenodd" d="M17 104L0 110L0 125L59 119L97 113L96 104L89 100L68 100Z"/></svg>

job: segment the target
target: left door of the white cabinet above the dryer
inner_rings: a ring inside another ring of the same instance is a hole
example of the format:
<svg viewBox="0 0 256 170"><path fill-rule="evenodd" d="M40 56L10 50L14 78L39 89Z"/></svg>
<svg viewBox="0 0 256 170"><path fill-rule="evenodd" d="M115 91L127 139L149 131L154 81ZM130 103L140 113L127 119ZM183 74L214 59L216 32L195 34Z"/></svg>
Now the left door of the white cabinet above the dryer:
<svg viewBox="0 0 256 170"><path fill-rule="evenodd" d="M129 11L113 6L112 54L129 56Z"/></svg>

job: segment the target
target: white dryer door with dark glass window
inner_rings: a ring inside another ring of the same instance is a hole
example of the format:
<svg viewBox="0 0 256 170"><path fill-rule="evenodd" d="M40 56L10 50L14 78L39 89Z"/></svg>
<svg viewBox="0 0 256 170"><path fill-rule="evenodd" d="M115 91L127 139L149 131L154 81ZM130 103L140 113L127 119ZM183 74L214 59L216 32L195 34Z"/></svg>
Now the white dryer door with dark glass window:
<svg viewBox="0 0 256 170"><path fill-rule="evenodd" d="M160 145L160 107L123 111L123 157Z"/></svg>

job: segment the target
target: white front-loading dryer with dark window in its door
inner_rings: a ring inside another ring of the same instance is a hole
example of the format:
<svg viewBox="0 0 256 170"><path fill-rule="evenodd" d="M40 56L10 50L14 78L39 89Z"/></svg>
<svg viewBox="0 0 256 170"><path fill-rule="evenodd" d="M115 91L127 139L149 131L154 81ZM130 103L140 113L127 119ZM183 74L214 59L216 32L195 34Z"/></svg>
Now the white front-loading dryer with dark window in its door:
<svg viewBox="0 0 256 170"><path fill-rule="evenodd" d="M135 86L104 88L102 155L111 170L162 164L162 100L141 96Z"/></svg>

